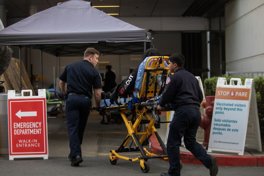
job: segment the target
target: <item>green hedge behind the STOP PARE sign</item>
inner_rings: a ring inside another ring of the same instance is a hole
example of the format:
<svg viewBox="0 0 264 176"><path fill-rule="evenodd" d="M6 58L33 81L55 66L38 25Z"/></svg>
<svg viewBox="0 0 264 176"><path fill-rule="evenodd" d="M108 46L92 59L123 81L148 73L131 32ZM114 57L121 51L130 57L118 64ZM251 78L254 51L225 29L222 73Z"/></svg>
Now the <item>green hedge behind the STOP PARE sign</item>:
<svg viewBox="0 0 264 176"><path fill-rule="evenodd" d="M231 78L240 78L242 85L245 84L245 79L246 79L245 77L235 77L235 76L231 77L226 75L223 75L222 78L226 78L227 84L229 84ZM205 96L215 96L217 79L218 77L212 77L204 80ZM257 105L258 105L261 140L262 140L262 144L264 145L264 77L259 76L254 78L254 83L256 89Z"/></svg>

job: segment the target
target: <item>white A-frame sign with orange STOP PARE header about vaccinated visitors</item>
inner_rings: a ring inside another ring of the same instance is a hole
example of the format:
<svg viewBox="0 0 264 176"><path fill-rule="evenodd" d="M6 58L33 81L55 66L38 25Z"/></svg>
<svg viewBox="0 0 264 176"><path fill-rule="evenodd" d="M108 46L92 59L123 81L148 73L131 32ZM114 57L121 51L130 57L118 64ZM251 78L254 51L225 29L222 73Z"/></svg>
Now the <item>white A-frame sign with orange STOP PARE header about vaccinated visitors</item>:
<svg viewBox="0 0 264 176"><path fill-rule="evenodd" d="M218 78L208 152L244 155L245 143L261 151L254 80L246 79L242 85L240 79L232 78L227 85L225 78Z"/></svg>

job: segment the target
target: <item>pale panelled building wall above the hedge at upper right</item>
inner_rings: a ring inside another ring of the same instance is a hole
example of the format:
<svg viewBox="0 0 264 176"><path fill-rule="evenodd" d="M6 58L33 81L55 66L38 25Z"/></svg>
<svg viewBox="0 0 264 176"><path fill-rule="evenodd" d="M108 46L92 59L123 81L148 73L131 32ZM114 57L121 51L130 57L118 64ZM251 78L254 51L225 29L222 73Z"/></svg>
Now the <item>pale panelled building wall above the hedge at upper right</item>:
<svg viewBox="0 0 264 176"><path fill-rule="evenodd" d="M264 71L263 16L263 0L234 0L226 5L227 71Z"/></svg>

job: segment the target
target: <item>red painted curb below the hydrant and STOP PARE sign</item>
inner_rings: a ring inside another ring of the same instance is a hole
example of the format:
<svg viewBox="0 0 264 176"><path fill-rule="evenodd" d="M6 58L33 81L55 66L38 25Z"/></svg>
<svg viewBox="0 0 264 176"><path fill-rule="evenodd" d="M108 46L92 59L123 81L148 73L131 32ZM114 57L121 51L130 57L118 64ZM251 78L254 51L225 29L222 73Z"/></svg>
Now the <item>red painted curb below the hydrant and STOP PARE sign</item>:
<svg viewBox="0 0 264 176"><path fill-rule="evenodd" d="M153 150L154 154L163 155L161 146L154 135L149 139L150 150ZM218 166L264 166L264 156L230 156L230 155L213 155L217 158ZM180 151L180 158L183 163L188 164L202 164L192 153ZM168 160L167 160L168 161Z"/></svg>

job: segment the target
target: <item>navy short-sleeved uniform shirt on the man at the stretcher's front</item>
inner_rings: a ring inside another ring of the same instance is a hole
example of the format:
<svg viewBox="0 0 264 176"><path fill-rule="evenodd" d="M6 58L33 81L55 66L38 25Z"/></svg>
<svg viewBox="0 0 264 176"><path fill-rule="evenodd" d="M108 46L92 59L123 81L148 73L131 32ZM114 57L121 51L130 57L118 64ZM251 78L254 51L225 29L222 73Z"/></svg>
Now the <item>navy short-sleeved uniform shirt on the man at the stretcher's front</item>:
<svg viewBox="0 0 264 176"><path fill-rule="evenodd" d="M101 76L87 60L74 62L67 65L59 77L67 82L67 94L76 93L92 98L92 87L102 88Z"/></svg>

